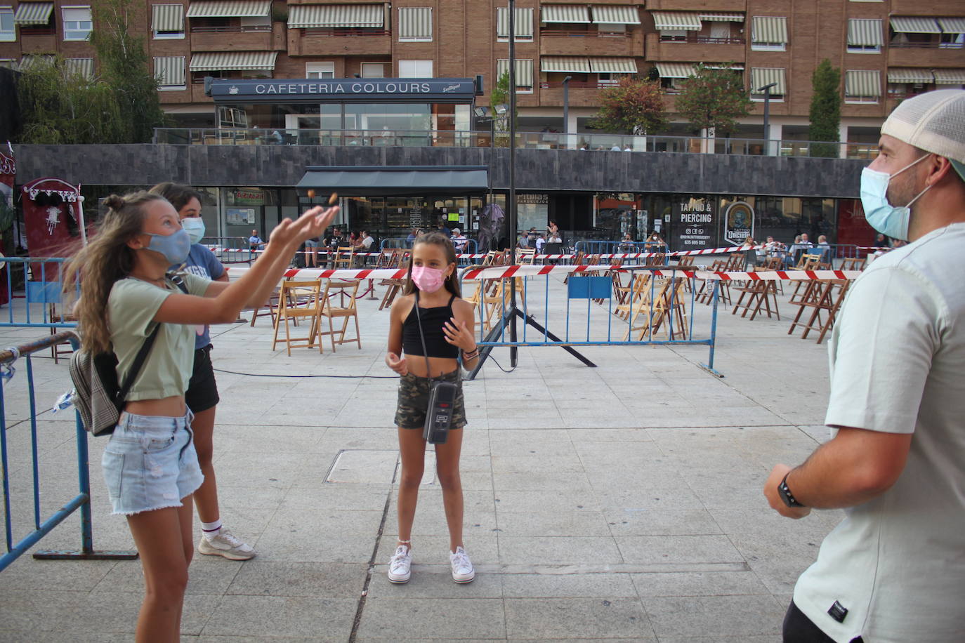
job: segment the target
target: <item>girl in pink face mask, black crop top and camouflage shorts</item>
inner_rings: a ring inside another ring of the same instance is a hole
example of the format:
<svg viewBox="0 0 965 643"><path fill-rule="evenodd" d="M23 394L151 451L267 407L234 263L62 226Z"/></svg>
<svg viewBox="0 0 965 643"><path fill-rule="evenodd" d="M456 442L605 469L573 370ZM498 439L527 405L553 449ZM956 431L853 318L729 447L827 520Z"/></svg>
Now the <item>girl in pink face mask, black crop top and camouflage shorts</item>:
<svg viewBox="0 0 965 643"><path fill-rule="evenodd" d="M426 461L423 425L428 395L434 381L444 380L455 383L458 392L449 437L445 443L435 445L436 475L442 487L442 502L449 524L449 562L453 580L470 582L476 572L462 543L459 452L466 413L459 362L467 370L472 369L479 361L479 349L474 335L473 307L460 298L455 249L449 237L428 232L415 240L403 293L404 296L392 306L389 347L385 356L385 363L401 376L395 419L402 459L399 542L389 561L389 580L404 583L411 576L412 522Z"/></svg>

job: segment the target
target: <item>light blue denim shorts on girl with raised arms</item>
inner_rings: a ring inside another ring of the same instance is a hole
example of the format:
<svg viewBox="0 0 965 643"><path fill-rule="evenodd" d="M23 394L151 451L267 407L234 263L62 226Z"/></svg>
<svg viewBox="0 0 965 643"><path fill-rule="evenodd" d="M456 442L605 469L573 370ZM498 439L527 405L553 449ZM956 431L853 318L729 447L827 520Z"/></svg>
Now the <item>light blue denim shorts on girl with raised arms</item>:
<svg viewBox="0 0 965 643"><path fill-rule="evenodd" d="M205 480L194 450L189 411L183 417L121 414L101 463L115 514L183 506Z"/></svg>

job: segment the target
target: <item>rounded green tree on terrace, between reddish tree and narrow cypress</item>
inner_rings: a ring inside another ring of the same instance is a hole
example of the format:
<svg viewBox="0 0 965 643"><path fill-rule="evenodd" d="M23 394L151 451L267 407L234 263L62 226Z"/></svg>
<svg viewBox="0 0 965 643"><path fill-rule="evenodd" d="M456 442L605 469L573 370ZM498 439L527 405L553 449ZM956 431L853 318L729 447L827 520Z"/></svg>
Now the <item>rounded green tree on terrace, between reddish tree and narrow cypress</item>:
<svg viewBox="0 0 965 643"><path fill-rule="evenodd" d="M695 129L712 128L715 134L730 134L737 130L737 120L751 113L753 103L740 74L729 68L729 63L721 67L698 65L680 83L675 105L676 112Z"/></svg>

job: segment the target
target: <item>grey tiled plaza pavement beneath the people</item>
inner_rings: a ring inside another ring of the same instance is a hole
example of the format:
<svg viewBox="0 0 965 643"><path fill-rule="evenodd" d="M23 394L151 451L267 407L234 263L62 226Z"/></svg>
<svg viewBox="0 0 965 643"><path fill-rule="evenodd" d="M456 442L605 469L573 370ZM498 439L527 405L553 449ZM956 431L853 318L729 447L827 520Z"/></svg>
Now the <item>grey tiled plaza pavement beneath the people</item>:
<svg viewBox="0 0 965 643"><path fill-rule="evenodd" d="M552 292L562 296L558 281ZM781 519L760 486L774 463L800 462L827 437L824 345L786 335L786 319L722 308L724 379L697 365L707 351L696 346L584 349L596 368L549 347L522 349L511 373L488 362L465 383L465 541L478 576L452 581L441 494L427 475L412 580L394 586L396 387L358 377L391 375L388 311L360 306L362 350L272 352L267 318L214 330L217 368L342 377L218 373L222 514L258 557L196 557L184 640L780 640L794 579L841 514ZM696 328L707 319L699 306ZM507 349L494 355L509 368ZM18 365L8 423L26 413ZM67 388L67 365L37 359L34 369L46 408ZM70 417L42 419L46 514L73 495L76 473ZM8 431L21 536L31 521L26 428ZM96 548L130 549L124 520L109 515L105 442L90 441ZM41 547L76 547L78 524L71 517ZM128 641L141 596L137 561L24 556L0 573L0 640Z"/></svg>

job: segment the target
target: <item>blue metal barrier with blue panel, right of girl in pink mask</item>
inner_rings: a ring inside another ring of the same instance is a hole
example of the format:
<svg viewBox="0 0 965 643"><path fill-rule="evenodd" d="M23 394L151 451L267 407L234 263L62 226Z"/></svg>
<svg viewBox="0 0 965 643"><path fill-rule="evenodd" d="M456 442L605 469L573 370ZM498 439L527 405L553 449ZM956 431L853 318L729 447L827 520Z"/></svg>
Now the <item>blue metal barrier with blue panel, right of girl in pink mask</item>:
<svg viewBox="0 0 965 643"><path fill-rule="evenodd" d="M463 297L477 308L477 344L483 351L496 346L560 346L568 350L578 346L705 345L709 347L709 354L703 368L722 377L714 370L719 296L716 281L711 294L712 311L707 335L695 337L696 280L687 278L684 269L621 266L614 271L610 266L593 266L593 270L569 272L565 288L559 279L551 279L551 273L556 269L536 276L500 277L516 272L524 274L520 268L526 267L474 270L475 276L469 280L465 279L469 271L460 275ZM487 278L486 274L494 277ZM619 295L615 275L621 279ZM684 292L686 280L690 281L689 292ZM510 292L513 288L514 294ZM561 301L563 298L565 304ZM573 303L582 300L586 301L585 307L582 303ZM513 301L517 302L515 308ZM513 317L521 322L521 335L511 332ZM585 328L581 330L580 326L584 324ZM554 325L563 329L562 336L549 330ZM658 333L663 333L666 338L655 337ZM574 351L569 352L593 365Z"/></svg>

